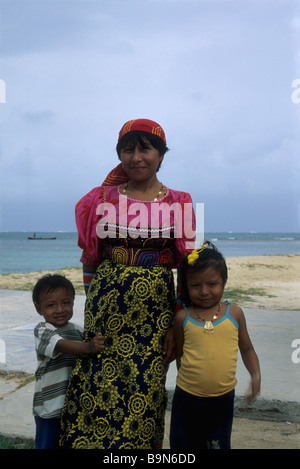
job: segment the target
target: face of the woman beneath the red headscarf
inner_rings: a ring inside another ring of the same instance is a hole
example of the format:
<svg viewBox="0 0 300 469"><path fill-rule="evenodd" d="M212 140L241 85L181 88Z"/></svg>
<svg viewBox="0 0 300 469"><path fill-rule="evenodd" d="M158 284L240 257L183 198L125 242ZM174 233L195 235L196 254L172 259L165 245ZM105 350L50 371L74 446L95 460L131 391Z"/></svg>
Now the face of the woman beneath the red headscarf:
<svg viewBox="0 0 300 469"><path fill-rule="evenodd" d="M142 148L140 145L122 148L120 159L124 171L130 179L134 181L146 181L156 177L159 164L163 160L163 156L159 155L159 151L150 146Z"/></svg>

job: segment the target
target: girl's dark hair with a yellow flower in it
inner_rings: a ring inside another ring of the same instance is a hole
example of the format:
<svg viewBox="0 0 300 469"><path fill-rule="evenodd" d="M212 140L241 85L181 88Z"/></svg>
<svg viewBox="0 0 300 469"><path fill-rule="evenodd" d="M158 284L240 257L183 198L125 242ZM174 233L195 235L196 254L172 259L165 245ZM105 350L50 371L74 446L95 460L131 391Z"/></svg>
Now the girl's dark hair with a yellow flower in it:
<svg viewBox="0 0 300 469"><path fill-rule="evenodd" d="M203 246L205 246L203 248ZM198 255L198 257L196 257ZM182 301L186 306L191 305L190 295L187 287L187 275L192 272L199 272L200 270L208 269L212 267L216 269L222 279L223 283L227 282L228 273L227 273L227 265L224 257L218 251L214 244L210 241L205 241L201 248L195 250L195 261L192 264L189 264L189 256L188 254L179 269L179 275L181 278L182 286Z"/></svg>

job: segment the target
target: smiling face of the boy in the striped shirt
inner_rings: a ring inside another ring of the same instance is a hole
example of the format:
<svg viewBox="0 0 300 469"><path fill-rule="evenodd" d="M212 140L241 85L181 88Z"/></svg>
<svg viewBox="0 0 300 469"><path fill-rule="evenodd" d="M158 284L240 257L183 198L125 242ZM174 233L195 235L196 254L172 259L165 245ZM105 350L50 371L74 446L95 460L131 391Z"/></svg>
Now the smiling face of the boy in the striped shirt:
<svg viewBox="0 0 300 469"><path fill-rule="evenodd" d="M74 297L69 290L59 288L41 291L35 309L44 316L45 321L55 327L64 326L73 316Z"/></svg>

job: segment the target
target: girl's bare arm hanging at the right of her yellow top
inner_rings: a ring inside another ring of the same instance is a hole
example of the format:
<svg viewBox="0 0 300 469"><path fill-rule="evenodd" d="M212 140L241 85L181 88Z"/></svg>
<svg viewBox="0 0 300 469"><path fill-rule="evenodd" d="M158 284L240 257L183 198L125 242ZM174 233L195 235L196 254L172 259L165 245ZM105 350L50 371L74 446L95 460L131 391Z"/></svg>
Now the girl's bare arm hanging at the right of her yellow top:
<svg viewBox="0 0 300 469"><path fill-rule="evenodd" d="M252 345L251 339L248 334L246 318L243 311L239 308L238 322L239 322L239 349L245 367L250 373L251 381L246 391L245 400L251 402L260 392L260 367L258 357Z"/></svg>

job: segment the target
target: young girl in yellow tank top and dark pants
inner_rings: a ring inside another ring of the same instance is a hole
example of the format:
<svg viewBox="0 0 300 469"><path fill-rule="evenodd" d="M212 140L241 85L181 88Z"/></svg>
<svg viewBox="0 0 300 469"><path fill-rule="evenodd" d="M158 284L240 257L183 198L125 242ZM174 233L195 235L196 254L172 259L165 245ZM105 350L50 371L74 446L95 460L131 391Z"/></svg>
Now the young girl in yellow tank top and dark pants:
<svg viewBox="0 0 300 469"><path fill-rule="evenodd" d="M257 355L241 308L222 302L226 262L210 242L181 269L184 308L176 313L177 386L171 449L230 449L238 348L251 375L250 402L260 390Z"/></svg>

